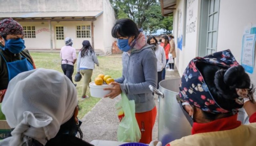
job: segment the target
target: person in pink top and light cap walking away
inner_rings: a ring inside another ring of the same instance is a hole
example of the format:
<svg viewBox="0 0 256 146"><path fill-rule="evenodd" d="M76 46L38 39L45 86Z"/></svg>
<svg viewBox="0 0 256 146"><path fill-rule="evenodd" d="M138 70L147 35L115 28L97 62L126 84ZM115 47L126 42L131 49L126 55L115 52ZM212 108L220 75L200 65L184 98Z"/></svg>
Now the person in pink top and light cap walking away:
<svg viewBox="0 0 256 146"><path fill-rule="evenodd" d="M67 37L65 39L66 46L63 46L60 50L61 69L64 75L66 75L73 83L72 75L74 73L74 64L76 63L76 49L72 47L73 39ZM73 83L74 84L74 83ZM76 84L74 84L76 86Z"/></svg>

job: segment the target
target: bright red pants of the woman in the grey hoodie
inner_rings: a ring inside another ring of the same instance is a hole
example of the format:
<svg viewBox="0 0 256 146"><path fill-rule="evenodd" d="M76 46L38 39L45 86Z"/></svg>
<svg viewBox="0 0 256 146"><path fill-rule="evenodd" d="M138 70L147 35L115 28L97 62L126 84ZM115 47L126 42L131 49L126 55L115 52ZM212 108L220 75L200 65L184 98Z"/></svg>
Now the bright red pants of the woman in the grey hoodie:
<svg viewBox="0 0 256 146"><path fill-rule="evenodd" d="M152 130L156 121L156 106L148 112L135 113L141 132L141 143L149 143L152 141Z"/></svg>

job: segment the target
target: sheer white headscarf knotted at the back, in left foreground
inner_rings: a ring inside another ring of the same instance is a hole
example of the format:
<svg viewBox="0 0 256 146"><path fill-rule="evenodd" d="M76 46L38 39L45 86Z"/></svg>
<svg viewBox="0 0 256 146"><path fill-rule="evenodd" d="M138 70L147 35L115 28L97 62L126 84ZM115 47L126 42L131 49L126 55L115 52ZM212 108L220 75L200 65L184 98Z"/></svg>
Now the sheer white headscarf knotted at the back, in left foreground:
<svg viewBox="0 0 256 146"><path fill-rule="evenodd" d="M0 145L27 146L31 139L45 145L73 116L77 103L75 86L58 71L34 69L18 74L2 103L2 112L14 130Z"/></svg>

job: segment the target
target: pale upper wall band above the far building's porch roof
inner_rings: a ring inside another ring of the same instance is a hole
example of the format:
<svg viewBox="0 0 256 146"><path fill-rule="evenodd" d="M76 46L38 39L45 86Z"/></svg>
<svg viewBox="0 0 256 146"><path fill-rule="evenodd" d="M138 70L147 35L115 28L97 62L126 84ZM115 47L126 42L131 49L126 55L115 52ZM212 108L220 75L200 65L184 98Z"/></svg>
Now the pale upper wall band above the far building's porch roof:
<svg viewBox="0 0 256 146"><path fill-rule="evenodd" d="M9 9L12 7L12 9ZM102 11L102 0L1 0L2 12Z"/></svg>

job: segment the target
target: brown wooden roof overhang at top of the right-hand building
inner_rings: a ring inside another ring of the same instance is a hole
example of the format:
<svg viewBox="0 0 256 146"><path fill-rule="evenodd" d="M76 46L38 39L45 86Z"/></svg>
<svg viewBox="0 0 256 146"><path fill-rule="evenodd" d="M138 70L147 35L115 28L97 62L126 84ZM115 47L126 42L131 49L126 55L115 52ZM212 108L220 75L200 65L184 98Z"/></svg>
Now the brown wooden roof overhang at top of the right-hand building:
<svg viewBox="0 0 256 146"><path fill-rule="evenodd" d="M176 10L176 0L160 0L163 16L172 16Z"/></svg>

